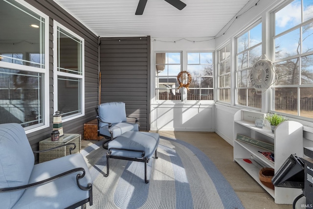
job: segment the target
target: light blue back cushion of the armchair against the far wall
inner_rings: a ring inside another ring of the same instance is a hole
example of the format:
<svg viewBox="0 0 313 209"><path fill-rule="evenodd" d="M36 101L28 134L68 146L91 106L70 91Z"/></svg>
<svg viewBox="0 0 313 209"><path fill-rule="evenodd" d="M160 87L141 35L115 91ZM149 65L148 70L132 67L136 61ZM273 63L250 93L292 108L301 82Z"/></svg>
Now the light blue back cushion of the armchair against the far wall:
<svg viewBox="0 0 313 209"><path fill-rule="evenodd" d="M104 122L120 123L126 121L126 110L124 102L106 102L98 105L99 117ZM99 127L108 125L100 121Z"/></svg>

